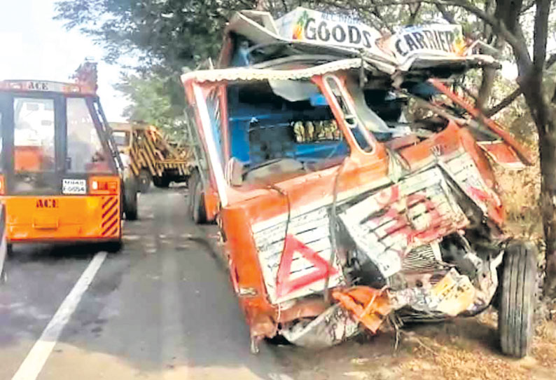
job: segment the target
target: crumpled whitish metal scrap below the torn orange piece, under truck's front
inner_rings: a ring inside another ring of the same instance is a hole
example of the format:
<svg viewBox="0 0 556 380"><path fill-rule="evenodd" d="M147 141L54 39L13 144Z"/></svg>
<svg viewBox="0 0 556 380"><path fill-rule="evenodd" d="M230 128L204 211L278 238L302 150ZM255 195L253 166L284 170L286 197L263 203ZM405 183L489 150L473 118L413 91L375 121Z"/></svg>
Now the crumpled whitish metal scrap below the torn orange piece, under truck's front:
<svg viewBox="0 0 556 380"><path fill-rule="evenodd" d="M359 323L349 311L335 304L314 320L296 323L280 334L296 346L324 348L347 341L359 332Z"/></svg>

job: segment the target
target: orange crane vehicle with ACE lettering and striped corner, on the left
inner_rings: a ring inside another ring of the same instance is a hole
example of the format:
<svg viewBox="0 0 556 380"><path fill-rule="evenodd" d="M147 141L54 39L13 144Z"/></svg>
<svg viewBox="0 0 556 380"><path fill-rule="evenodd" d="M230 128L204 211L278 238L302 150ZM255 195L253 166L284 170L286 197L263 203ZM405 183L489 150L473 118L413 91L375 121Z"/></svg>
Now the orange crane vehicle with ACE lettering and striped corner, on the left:
<svg viewBox="0 0 556 380"><path fill-rule="evenodd" d="M49 81L0 82L0 200L8 250L19 242L114 242L137 217L95 89ZM124 183L125 182L125 183Z"/></svg>

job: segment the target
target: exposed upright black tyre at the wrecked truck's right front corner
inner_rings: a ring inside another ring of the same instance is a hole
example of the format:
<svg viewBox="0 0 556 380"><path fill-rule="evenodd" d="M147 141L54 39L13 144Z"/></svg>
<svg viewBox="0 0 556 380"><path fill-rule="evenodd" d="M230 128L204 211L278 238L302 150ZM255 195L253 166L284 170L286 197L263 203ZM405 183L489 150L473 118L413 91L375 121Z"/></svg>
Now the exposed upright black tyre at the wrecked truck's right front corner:
<svg viewBox="0 0 556 380"><path fill-rule="evenodd" d="M502 352L527 355L533 339L536 301L536 257L532 243L510 243L503 258L498 330Z"/></svg>

